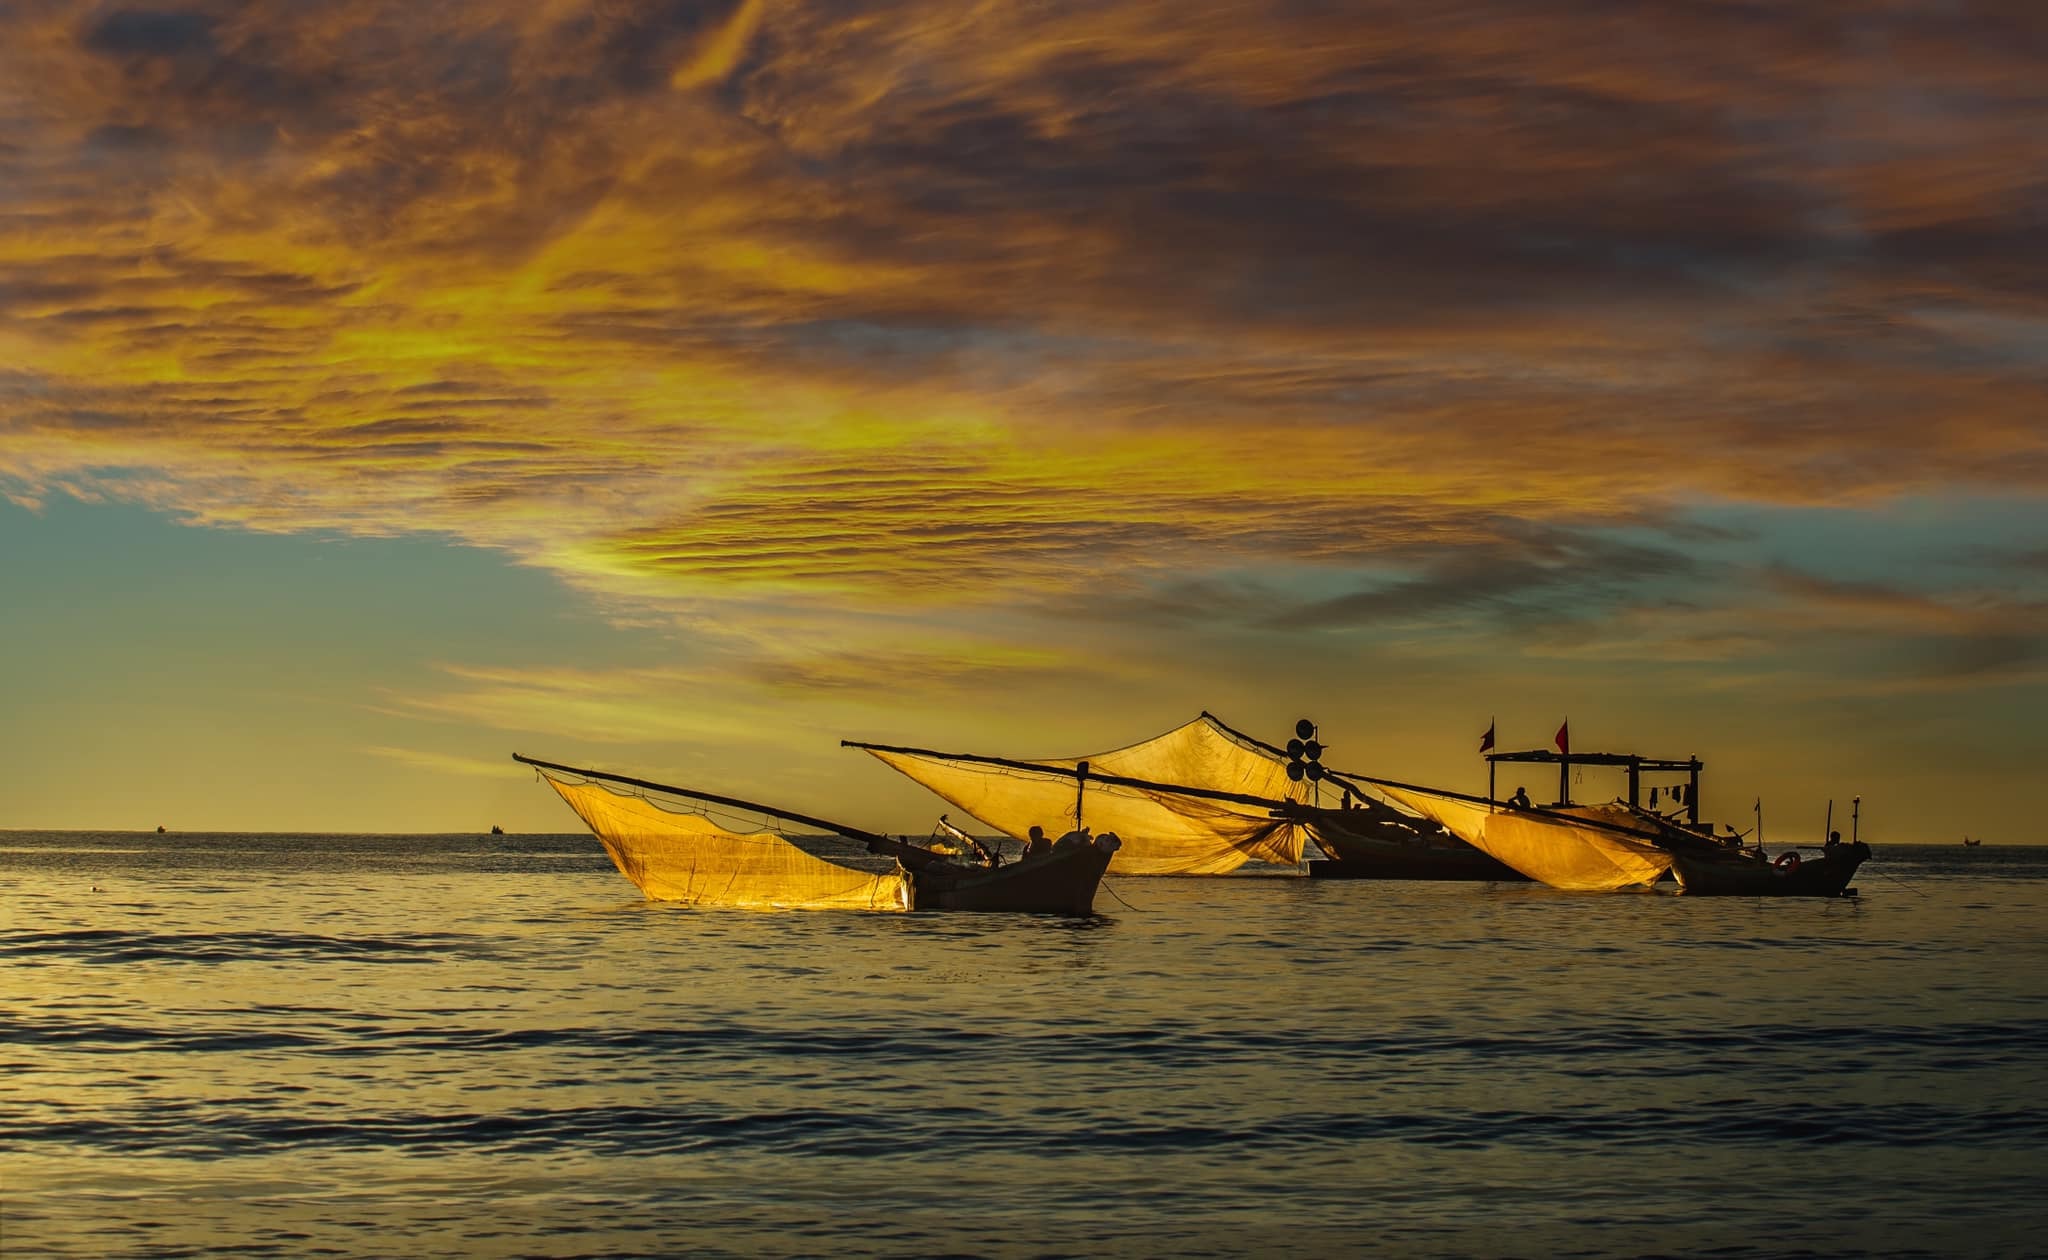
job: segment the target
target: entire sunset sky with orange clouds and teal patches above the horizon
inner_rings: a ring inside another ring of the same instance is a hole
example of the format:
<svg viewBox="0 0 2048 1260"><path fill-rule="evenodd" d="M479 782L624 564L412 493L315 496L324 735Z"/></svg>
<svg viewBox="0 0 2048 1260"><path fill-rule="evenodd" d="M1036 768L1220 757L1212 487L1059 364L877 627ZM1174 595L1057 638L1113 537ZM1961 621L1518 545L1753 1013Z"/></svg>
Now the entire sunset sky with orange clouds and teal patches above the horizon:
<svg viewBox="0 0 2048 1260"><path fill-rule="evenodd" d="M575 830L516 750L922 834L838 740L1208 709L2048 840L2044 66L2032 0L12 0L0 828Z"/></svg>

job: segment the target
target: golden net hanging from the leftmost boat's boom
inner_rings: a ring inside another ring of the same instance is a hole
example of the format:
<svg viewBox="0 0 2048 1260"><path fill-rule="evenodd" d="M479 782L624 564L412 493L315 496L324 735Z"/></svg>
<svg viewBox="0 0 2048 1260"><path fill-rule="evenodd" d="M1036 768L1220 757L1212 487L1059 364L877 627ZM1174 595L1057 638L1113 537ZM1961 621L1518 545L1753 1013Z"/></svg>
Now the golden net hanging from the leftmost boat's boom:
<svg viewBox="0 0 2048 1260"><path fill-rule="evenodd" d="M739 834L596 783L549 787L590 826L618 873L655 901L752 910L909 910L903 871L868 875L774 832Z"/></svg>

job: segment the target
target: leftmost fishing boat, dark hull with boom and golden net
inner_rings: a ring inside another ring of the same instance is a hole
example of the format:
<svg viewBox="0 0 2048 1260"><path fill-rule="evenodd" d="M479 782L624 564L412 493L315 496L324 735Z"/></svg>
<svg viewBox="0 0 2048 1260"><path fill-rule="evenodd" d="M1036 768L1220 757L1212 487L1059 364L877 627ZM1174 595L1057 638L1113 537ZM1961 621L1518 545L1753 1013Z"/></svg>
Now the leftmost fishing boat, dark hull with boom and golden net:
<svg viewBox="0 0 2048 1260"><path fill-rule="evenodd" d="M1047 852L1016 863L1004 865L993 852L977 854L979 860L963 860L965 854L958 850L942 852L907 838L739 797L545 762L516 752L512 760L539 770L584 820L618 873L653 901L752 910L1092 914L1096 887L1118 848L1114 834L1071 832ZM731 832L705 813L657 805L645 793L815 828L860 842L870 854L891 856L895 863L889 871L846 867L807 852L780 832Z"/></svg>

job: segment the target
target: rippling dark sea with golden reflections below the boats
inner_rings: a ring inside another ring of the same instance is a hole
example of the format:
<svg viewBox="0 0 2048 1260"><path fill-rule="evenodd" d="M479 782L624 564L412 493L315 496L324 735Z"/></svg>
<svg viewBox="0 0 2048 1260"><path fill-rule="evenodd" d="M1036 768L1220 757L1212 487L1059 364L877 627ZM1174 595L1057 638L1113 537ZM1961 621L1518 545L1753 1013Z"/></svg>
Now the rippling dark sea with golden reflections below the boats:
<svg viewBox="0 0 2048 1260"><path fill-rule="evenodd" d="M588 836L0 832L0 1252L2048 1248L2048 848L1880 844L1845 901L1108 887L748 914Z"/></svg>

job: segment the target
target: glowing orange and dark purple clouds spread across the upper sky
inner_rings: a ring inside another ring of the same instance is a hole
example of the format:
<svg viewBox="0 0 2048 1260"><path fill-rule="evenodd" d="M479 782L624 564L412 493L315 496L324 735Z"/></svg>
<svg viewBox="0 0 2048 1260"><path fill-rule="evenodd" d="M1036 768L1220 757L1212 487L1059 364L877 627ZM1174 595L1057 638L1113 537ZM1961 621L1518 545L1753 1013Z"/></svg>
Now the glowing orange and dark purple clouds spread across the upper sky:
<svg viewBox="0 0 2048 1260"><path fill-rule="evenodd" d="M727 662L762 686L874 686L903 608L1741 656L1620 527L2048 486L2036 47L2023 6L29 0L0 492L872 619ZM1712 576L1960 672L2040 629Z"/></svg>

